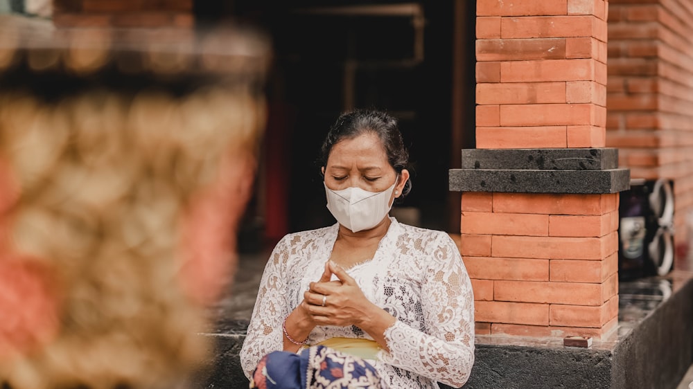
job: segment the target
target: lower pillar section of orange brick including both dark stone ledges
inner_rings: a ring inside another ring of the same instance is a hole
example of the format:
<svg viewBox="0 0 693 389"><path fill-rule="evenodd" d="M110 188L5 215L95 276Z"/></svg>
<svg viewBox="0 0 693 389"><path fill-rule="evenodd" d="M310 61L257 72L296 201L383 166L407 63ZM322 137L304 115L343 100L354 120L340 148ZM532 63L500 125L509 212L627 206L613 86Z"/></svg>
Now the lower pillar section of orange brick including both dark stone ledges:
<svg viewBox="0 0 693 389"><path fill-rule="evenodd" d="M617 325L614 149L463 150L460 252L477 334L602 338Z"/></svg>

